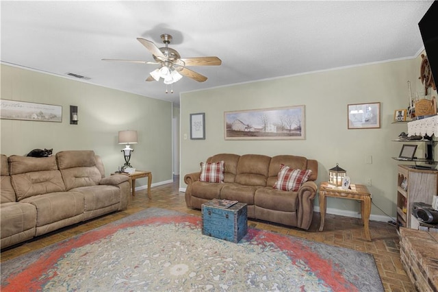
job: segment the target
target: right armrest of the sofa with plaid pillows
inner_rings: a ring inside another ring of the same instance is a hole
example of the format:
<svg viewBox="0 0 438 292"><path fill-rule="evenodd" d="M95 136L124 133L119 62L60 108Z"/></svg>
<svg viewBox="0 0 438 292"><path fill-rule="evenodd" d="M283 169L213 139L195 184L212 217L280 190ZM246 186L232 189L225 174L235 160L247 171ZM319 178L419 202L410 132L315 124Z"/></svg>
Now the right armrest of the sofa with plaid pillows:
<svg viewBox="0 0 438 292"><path fill-rule="evenodd" d="M313 199L316 196L315 182L305 182L298 190L298 227L308 230L313 218Z"/></svg>

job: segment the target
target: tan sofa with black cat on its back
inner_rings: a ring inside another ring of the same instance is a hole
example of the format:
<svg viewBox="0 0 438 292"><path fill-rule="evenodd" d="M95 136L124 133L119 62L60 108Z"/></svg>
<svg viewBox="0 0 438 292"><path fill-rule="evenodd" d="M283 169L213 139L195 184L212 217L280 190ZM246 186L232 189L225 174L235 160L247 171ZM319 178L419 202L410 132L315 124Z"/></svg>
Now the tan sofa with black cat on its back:
<svg viewBox="0 0 438 292"><path fill-rule="evenodd" d="M94 151L1 155L1 248L127 208L129 178L105 178Z"/></svg>

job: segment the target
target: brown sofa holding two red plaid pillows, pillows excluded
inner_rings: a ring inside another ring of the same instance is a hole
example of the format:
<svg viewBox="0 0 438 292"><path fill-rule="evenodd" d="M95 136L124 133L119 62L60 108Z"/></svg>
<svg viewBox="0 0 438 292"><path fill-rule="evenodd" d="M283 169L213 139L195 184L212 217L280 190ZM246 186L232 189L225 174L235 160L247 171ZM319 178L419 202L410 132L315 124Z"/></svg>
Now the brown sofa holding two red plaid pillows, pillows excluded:
<svg viewBox="0 0 438 292"><path fill-rule="evenodd" d="M316 195L318 162L302 156L257 154L217 154L207 162L224 161L224 182L200 182L201 172L185 175L185 204L201 209L210 199L230 199L248 204L248 217L309 229ZM291 169L311 169L309 180L298 191L273 188L280 165Z"/></svg>

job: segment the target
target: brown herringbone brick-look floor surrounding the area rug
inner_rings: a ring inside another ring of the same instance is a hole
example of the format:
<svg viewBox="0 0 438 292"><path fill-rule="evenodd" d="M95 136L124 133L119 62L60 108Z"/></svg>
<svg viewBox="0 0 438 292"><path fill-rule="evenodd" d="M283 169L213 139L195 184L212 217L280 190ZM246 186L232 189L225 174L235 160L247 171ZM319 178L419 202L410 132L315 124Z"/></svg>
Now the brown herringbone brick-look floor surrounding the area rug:
<svg viewBox="0 0 438 292"><path fill-rule="evenodd" d="M63 228L62 230L40 236L36 240L4 250L1 252L1 261L3 262L10 258L27 254L41 247L92 230L150 207L166 208L201 216L200 210L192 210L185 206L184 193L178 191L178 183L179 179L175 177L173 184L153 187L151 200L148 199L146 190L136 192L136 197L131 197L129 207L123 212L115 212L97 219L92 219L86 223ZM372 254L376 260L378 272L381 276L385 291L415 291L400 263L400 246L396 227L388 223L370 221L371 242L365 240L363 226L360 225L359 219L357 218L326 215L324 231L319 232L319 212L314 212L311 228L307 231L264 221L248 220L248 224L253 228L270 230L281 234L298 236L311 241L368 252ZM360 275L357 276L360 277Z"/></svg>

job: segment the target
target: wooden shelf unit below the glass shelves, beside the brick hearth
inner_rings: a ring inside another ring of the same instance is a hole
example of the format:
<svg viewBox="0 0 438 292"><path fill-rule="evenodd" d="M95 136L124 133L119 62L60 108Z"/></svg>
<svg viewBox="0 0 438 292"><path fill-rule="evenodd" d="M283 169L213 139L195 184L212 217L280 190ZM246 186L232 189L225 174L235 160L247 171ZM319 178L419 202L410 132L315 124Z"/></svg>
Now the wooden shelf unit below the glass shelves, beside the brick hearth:
<svg viewBox="0 0 438 292"><path fill-rule="evenodd" d="M406 186L404 183L406 183ZM438 192L438 171L413 169L409 165L398 165L397 180L397 224L411 226L411 209L414 202L432 203Z"/></svg>

